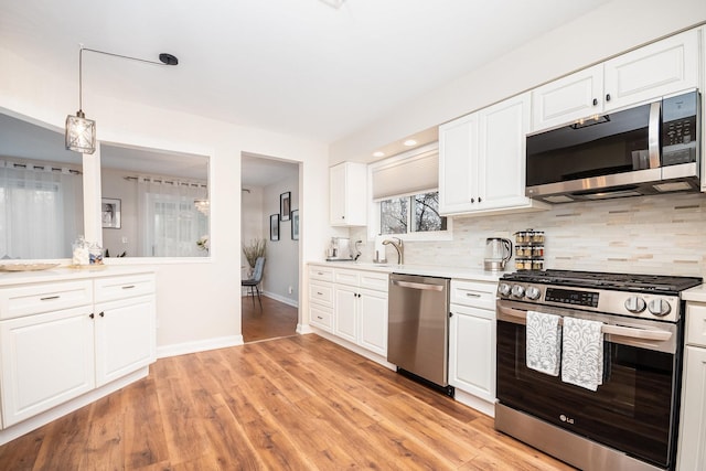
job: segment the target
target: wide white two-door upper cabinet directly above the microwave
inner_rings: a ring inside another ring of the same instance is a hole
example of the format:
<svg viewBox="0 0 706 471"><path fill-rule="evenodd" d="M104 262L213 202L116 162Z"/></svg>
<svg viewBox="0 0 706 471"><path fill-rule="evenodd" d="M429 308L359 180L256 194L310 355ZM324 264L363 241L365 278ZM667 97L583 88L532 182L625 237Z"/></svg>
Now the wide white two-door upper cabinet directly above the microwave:
<svg viewBox="0 0 706 471"><path fill-rule="evenodd" d="M535 88L532 130L696 88L698 40L686 31Z"/></svg>

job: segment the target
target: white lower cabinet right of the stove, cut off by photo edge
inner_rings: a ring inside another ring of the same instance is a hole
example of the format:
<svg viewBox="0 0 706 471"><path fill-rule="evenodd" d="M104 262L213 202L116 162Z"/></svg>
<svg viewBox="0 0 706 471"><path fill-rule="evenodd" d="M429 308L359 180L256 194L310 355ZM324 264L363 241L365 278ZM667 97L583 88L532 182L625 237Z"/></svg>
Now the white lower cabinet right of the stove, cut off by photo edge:
<svg viewBox="0 0 706 471"><path fill-rule="evenodd" d="M686 306L677 469L706 471L706 304L697 302Z"/></svg>

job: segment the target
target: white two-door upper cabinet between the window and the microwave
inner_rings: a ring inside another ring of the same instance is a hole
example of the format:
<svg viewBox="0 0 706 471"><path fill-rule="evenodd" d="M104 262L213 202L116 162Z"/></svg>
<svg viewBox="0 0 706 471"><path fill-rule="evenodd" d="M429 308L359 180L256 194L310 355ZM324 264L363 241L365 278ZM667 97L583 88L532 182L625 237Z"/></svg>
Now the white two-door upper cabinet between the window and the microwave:
<svg viewBox="0 0 706 471"><path fill-rule="evenodd" d="M440 126L440 213L546 207L525 196L528 130L528 93Z"/></svg>

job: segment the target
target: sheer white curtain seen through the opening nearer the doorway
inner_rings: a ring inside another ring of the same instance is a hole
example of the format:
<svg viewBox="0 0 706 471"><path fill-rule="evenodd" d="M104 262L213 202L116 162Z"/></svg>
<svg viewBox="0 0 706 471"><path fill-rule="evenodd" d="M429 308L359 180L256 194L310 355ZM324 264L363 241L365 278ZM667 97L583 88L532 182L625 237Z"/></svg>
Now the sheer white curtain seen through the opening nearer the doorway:
<svg viewBox="0 0 706 471"><path fill-rule="evenodd" d="M207 197L203 184L140 176L137 180L140 221L138 255L143 257L207 256L199 246L208 237L208 216L195 207Z"/></svg>

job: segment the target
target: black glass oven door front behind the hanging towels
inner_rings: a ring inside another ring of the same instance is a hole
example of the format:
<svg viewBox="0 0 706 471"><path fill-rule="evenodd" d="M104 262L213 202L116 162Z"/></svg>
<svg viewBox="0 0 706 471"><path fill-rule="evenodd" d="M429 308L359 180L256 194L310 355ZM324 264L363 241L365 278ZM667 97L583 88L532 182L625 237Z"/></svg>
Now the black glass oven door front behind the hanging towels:
<svg viewBox="0 0 706 471"><path fill-rule="evenodd" d="M498 322L498 398L566 430L666 465L672 451L675 355L605 343L597 392L525 364L525 327Z"/></svg>

